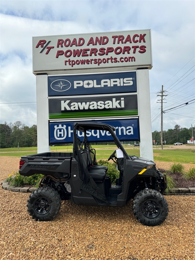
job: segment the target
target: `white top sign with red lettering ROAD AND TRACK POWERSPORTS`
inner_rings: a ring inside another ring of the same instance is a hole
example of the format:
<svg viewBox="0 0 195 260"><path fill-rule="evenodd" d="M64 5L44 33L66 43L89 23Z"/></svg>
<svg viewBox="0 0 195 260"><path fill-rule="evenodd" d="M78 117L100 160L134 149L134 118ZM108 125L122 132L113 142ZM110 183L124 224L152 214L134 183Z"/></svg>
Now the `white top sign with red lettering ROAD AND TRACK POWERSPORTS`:
<svg viewBox="0 0 195 260"><path fill-rule="evenodd" d="M152 67L151 30L33 37L33 73Z"/></svg>

